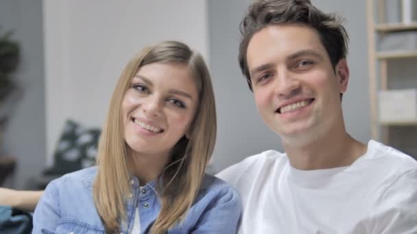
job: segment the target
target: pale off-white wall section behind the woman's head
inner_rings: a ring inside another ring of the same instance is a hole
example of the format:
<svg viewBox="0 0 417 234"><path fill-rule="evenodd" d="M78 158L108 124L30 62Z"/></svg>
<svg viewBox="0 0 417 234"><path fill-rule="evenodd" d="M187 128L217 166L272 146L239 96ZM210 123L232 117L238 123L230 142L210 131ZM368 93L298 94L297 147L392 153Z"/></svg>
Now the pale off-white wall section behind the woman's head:
<svg viewBox="0 0 417 234"><path fill-rule="evenodd" d="M182 40L208 60L204 0L44 0L47 155L64 121L101 126L123 66L146 44Z"/></svg>

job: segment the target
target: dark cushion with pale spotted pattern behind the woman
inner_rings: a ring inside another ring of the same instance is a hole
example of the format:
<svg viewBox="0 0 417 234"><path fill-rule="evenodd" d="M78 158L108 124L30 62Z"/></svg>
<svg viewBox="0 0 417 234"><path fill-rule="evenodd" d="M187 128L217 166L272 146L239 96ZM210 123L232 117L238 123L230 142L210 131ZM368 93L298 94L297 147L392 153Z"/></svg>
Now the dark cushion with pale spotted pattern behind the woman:
<svg viewBox="0 0 417 234"><path fill-rule="evenodd" d="M74 172L95 165L100 129L87 129L73 120L67 120L53 153L53 166L45 175Z"/></svg>

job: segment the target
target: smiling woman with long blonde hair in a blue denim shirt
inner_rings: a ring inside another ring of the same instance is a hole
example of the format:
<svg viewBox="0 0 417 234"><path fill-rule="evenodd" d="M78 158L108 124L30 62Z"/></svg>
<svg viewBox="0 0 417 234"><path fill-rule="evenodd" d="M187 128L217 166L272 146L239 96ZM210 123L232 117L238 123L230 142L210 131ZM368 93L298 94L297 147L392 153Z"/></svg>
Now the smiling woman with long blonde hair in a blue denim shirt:
<svg viewBox="0 0 417 234"><path fill-rule="evenodd" d="M145 47L112 94L98 166L49 183L33 233L235 233L239 196L204 174L215 135L202 56L180 42Z"/></svg>

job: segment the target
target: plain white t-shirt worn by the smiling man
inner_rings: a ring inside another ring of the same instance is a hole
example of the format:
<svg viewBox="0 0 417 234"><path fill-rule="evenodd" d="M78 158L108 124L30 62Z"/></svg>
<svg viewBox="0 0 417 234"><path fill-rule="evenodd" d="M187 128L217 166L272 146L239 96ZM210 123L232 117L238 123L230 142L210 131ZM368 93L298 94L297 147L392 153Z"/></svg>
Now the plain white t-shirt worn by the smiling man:
<svg viewBox="0 0 417 234"><path fill-rule="evenodd" d="M370 140L352 165L297 170L265 151L217 177L239 192L239 233L417 233L417 161Z"/></svg>

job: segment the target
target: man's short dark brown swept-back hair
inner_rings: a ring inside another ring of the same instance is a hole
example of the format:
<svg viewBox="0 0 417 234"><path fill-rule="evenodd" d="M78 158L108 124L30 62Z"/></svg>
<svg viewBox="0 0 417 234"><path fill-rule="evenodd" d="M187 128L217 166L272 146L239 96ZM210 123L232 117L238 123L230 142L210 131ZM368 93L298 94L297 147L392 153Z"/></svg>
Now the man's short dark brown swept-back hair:
<svg viewBox="0 0 417 234"><path fill-rule="evenodd" d="M333 69L340 60L346 58L348 34L339 16L325 14L311 5L310 0L259 0L250 5L240 23L242 38L239 45L239 66L250 90L252 81L246 55L252 36L267 26L285 23L299 23L318 31Z"/></svg>

